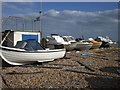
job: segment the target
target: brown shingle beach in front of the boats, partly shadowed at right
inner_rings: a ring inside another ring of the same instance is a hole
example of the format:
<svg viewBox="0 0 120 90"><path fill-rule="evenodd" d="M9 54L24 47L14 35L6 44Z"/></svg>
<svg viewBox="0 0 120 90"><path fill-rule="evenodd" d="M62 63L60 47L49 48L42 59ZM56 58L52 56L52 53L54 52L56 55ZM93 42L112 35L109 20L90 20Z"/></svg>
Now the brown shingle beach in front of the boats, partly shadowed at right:
<svg viewBox="0 0 120 90"><path fill-rule="evenodd" d="M81 55L84 53L94 54ZM120 49L73 51L66 54L67 58L47 63L35 63L29 65L31 67L4 65L2 67L2 87L18 89L120 88L120 74L117 72L120 69L118 54L120 54ZM78 67L82 66L78 62L86 65L85 68ZM40 68L39 66L61 67L61 69ZM87 66L94 71L91 71ZM101 74L106 76L101 76Z"/></svg>

